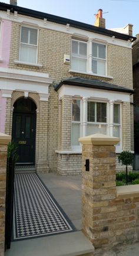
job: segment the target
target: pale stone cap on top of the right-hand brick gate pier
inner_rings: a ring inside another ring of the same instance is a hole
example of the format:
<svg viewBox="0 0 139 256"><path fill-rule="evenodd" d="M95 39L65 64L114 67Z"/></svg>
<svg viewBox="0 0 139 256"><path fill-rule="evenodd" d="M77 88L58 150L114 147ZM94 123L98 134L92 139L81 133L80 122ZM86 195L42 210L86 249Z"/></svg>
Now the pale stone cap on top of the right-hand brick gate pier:
<svg viewBox="0 0 139 256"><path fill-rule="evenodd" d="M116 145L120 141L120 138L105 134L92 134L79 138L78 141L85 145Z"/></svg>

